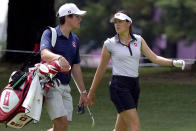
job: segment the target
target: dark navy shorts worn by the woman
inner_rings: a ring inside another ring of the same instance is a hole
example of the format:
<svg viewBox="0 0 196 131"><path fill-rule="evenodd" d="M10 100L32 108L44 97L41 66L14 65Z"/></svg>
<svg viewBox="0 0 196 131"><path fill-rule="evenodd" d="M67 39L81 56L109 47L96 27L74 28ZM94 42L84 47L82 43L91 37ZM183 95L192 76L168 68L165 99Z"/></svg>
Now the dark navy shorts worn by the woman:
<svg viewBox="0 0 196 131"><path fill-rule="evenodd" d="M137 108L139 94L138 78L113 76L110 85L110 98L118 113Z"/></svg>

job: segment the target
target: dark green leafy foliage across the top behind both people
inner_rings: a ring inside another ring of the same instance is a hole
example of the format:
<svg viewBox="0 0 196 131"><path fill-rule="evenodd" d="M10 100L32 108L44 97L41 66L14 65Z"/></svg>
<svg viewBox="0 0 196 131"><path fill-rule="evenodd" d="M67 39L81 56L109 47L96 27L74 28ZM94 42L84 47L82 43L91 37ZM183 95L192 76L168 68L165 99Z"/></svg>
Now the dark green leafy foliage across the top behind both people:
<svg viewBox="0 0 196 131"><path fill-rule="evenodd" d="M62 1L62 0L58 0ZM166 34L168 40L176 43L180 39L195 40L196 1L195 0L67 0L88 11L80 30L76 33L81 43L93 40L100 46L107 37L115 34L109 23L112 15L126 10L133 20L133 32L140 33L151 43L156 36ZM156 9L162 10L160 20L153 19ZM139 31L137 31L139 30Z"/></svg>

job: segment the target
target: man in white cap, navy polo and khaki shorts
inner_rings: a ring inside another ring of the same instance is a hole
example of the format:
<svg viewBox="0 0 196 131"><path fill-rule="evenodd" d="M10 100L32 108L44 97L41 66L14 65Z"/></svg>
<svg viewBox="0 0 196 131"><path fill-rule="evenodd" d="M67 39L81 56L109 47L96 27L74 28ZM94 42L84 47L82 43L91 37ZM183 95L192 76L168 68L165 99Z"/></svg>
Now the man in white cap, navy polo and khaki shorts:
<svg viewBox="0 0 196 131"><path fill-rule="evenodd" d="M53 128L48 131L67 131L68 121L72 120L73 103L70 94L69 82L74 79L77 87L80 89L79 104L87 106L87 95L84 86L82 72L80 68L79 40L72 33L72 30L80 28L81 16L86 11L80 10L73 3L66 3L59 8L57 16L60 25L55 29L57 40L54 47L51 45L51 31L45 30L41 38L41 58L46 62L58 60L61 71L68 74L58 73L61 85L58 88L51 88L45 99L46 109L53 121Z"/></svg>

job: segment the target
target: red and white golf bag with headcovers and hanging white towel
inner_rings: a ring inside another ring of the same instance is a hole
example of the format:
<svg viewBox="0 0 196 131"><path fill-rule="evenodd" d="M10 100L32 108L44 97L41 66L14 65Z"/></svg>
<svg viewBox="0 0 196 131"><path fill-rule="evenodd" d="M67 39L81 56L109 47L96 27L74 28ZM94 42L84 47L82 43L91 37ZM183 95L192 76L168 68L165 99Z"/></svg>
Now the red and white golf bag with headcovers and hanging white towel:
<svg viewBox="0 0 196 131"><path fill-rule="evenodd" d="M9 84L0 94L0 123L12 128L22 128L32 120L39 121L42 95L50 87L54 87L54 81L58 80L53 77L59 71L58 61L54 61L39 63L28 72L13 72ZM37 94L39 95L36 96ZM36 102L33 102L35 99Z"/></svg>

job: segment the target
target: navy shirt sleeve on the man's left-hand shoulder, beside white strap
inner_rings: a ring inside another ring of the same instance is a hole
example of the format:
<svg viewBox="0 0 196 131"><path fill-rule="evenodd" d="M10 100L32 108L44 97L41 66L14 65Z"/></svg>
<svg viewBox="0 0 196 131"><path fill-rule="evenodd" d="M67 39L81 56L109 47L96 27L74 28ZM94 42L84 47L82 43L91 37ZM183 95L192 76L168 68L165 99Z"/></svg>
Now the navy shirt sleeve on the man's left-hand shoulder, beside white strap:
<svg viewBox="0 0 196 131"><path fill-rule="evenodd" d="M51 37L52 37L52 33L49 29L46 29L41 37L41 41L40 41L40 51L43 49L52 49L52 45L51 45Z"/></svg>

